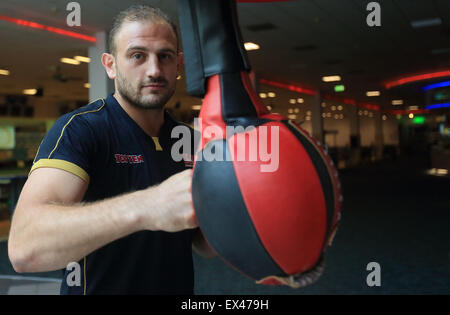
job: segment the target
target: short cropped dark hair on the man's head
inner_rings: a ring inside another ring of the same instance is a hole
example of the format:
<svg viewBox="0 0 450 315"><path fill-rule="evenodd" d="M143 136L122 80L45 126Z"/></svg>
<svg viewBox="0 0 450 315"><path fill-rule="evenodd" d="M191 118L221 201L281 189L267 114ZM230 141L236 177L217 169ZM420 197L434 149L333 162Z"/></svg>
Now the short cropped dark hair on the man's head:
<svg viewBox="0 0 450 315"><path fill-rule="evenodd" d="M172 27L177 41L178 51L178 32L176 24L169 18L169 16L161 11L161 9L149 5L132 5L128 9L123 10L114 18L108 38L109 52L116 54L115 37L119 33L120 28L126 22L140 22L140 21L164 21Z"/></svg>

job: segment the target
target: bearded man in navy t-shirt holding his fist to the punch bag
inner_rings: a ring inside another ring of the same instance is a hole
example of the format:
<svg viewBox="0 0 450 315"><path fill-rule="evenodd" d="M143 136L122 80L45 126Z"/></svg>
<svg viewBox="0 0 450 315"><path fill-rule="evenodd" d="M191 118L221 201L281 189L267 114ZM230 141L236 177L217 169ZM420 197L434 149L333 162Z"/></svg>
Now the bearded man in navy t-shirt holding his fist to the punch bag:
<svg viewBox="0 0 450 315"><path fill-rule="evenodd" d="M115 93L64 115L44 138L12 221L17 272L78 262L81 283L65 271L62 294L193 293L191 245L214 254L196 229L192 170L170 156L179 123L164 105L181 61L164 13L133 6L117 16L102 55Z"/></svg>

